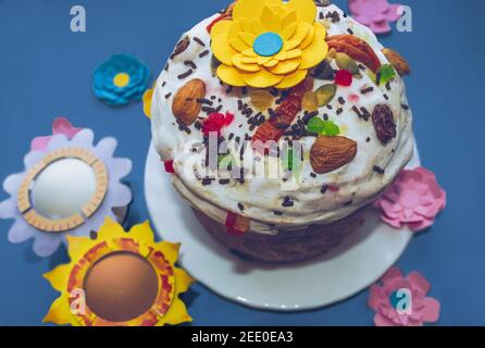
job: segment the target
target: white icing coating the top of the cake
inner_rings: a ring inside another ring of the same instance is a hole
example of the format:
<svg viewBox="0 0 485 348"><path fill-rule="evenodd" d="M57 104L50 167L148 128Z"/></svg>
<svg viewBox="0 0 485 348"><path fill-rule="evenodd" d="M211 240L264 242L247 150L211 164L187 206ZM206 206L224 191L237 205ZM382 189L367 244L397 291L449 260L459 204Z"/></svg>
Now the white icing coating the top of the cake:
<svg viewBox="0 0 485 348"><path fill-rule="evenodd" d="M358 24L350 17L344 17L344 13L335 5L319 8L324 14L337 11L340 21L329 22L327 35L348 34L350 28L353 35L364 39L371 45L382 63L388 63L381 52L382 45L378 44L374 34L366 27ZM410 110L405 110L401 105L408 104L403 82L396 77L390 83L390 90L384 86L376 86L374 82L363 73L361 79L353 79L350 87L338 87L337 95L331 102L333 107L328 110L321 108L320 116L326 113L331 121L340 127L340 135L348 137L358 144L357 157L349 164L324 175L311 176L313 172L309 152L313 145L314 137L306 137L300 141L303 144L304 158L301 172L302 182L297 190L282 190L283 179L270 178L247 178L244 184L231 181L228 185L220 185L217 181L211 185L203 186L200 181L195 179L190 173L185 173L184 165L188 154L194 159L194 153L188 151L190 144L201 141L202 133L190 126L191 133L179 130L172 114L172 102L175 92L192 78L200 78L206 83L207 96L217 96L222 99L223 109L221 112L231 112L236 115L235 121L226 128L222 135L227 139L231 133L244 138L249 130L247 119L238 114L238 99L249 104L249 96L240 97L226 92L226 86L221 86L220 80L211 73L211 54L202 58L200 53L210 49L210 35L206 27L216 15L207 18L195 26L183 37L197 37L201 39L206 47L191 40L185 52L170 61L169 69L164 70L157 82L152 100L152 136L153 142L163 161L174 160L175 174L173 185L175 189L187 200L187 202L203 211L210 217L224 224L227 211L237 212L251 220L251 229L263 234L274 234L277 229L298 231L310 224L326 224L356 212L373 200L391 183L396 175L403 169L413 154L414 138L412 133L412 114ZM185 61L194 61L197 70L189 77L179 79L177 76L188 69ZM335 62L333 63L335 64ZM337 69L336 65L333 66ZM321 85L328 84L328 80L314 82L314 89ZM360 91L365 87L373 87L374 90L362 95ZM359 96L359 101L352 103L349 96ZM388 96L388 100L384 95ZM346 100L340 105L338 98ZM365 107L371 113L376 104L387 104L395 116L397 125L397 137L387 146L383 146L377 139L372 120L365 122L360 120L351 110L352 105ZM337 115L336 110L343 108L344 112ZM206 113L201 112L201 117ZM268 116L268 115L266 115ZM295 121L297 117L295 117ZM368 138L370 141L368 141ZM190 152L190 153L187 153ZM199 154L200 161L204 159L204 150ZM251 157L250 151L245 153ZM383 169L384 174L378 174L374 166ZM337 186L338 191L327 190L321 192L323 185ZM294 207L283 208L282 202L286 196L294 201ZM238 203L244 206L241 212ZM282 215L275 214L282 212Z"/></svg>

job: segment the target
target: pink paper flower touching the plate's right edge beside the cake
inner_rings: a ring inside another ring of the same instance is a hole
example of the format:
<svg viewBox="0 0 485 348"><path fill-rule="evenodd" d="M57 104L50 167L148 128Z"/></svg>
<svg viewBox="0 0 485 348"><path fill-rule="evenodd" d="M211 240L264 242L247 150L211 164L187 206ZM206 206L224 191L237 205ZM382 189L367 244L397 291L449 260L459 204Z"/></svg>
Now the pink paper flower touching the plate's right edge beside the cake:
<svg viewBox="0 0 485 348"><path fill-rule="evenodd" d="M389 189L375 202L381 220L394 228L407 225L419 232L433 225L445 209L446 192L433 172L424 167L402 171Z"/></svg>

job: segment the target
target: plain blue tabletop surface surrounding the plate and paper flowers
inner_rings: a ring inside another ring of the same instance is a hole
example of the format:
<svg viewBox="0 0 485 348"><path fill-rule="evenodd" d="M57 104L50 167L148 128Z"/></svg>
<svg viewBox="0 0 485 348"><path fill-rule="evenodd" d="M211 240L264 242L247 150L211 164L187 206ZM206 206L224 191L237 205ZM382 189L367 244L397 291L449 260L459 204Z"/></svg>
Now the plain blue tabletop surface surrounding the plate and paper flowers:
<svg viewBox="0 0 485 348"><path fill-rule="evenodd" d="M148 219L144 166L150 126L139 102L114 109L90 91L94 66L111 53L137 54L154 76L182 33L228 0L0 0L0 178L23 170L30 140L65 115L114 136L117 156L130 158L135 201L128 224ZM346 1L334 1L346 9ZM437 173L449 203L433 228L416 236L398 265L419 271L442 302L442 325L485 325L484 38L483 0L402 0L413 10L413 33L382 37L409 59L407 79L423 163ZM70 30L70 9L87 11L87 33ZM0 200L7 198L1 191ZM32 243L7 240L0 221L0 324L38 325L58 294L42 273L66 262L61 249L41 260ZM345 270L341 270L345 272ZM308 284L307 286L311 286ZM248 309L201 285L185 296L195 325L372 325L368 291L329 308L300 313Z"/></svg>

